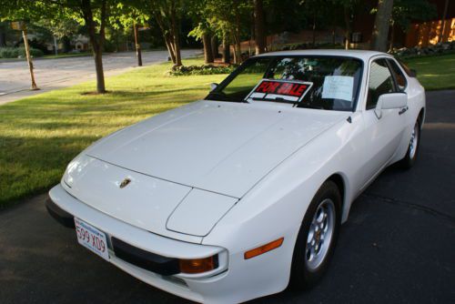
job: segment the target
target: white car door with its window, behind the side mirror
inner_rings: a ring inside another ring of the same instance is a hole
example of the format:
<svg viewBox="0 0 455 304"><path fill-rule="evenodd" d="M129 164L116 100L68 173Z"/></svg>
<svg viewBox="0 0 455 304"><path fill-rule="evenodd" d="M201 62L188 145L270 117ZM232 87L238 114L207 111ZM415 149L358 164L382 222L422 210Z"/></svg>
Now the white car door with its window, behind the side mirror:
<svg viewBox="0 0 455 304"><path fill-rule="evenodd" d="M388 165L399 147L405 127L403 110L383 109L382 116L375 114L379 96L401 92L390 72L386 58L372 60L369 64L367 100L363 111L367 162L364 168L365 186Z"/></svg>

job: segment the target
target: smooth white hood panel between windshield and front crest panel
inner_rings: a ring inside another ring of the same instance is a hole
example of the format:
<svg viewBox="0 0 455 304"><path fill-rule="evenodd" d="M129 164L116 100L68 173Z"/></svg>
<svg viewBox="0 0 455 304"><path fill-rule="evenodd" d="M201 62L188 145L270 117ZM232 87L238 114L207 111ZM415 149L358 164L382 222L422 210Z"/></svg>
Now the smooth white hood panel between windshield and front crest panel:
<svg viewBox="0 0 455 304"><path fill-rule="evenodd" d="M348 112L199 101L96 142L86 155L180 185L242 198Z"/></svg>

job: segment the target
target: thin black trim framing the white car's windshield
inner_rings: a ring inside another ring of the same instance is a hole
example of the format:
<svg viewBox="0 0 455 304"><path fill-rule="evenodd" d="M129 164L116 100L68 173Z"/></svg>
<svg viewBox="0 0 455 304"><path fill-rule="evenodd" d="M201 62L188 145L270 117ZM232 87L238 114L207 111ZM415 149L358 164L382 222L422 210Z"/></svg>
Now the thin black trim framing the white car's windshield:
<svg viewBox="0 0 455 304"><path fill-rule="evenodd" d="M238 66L238 68L236 68L231 74L229 74L222 82L219 83L219 85L217 86L217 88L211 92L208 93L208 95L204 98L205 100L212 100L211 98L209 98L209 96L211 95L211 93L220 93L230 82L232 79L234 79L236 76L238 76L238 74L240 74L247 66L248 66L248 63L252 60L256 60L256 59L262 59L262 58L266 58L266 59L270 59L270 62L268 63L268 67L266 69L266 71L268 71L268 69L270 68L270 64L272 64L274 61L280 59L280 58L298 58L298 57L303 57L303 58L321 58L321 57L325 57L325 58L339 58L339 59L354 59L356 61L359 61L360 63L360 77L359 77L359 86L357 87L357 90L356 92L354 92L355 94L355 99L352 103L352 107L350 109L351 112L356 112L356 109L357 109L357 106L358 106L358 103L359 103L359 95L360 95L360 88L362 86L362 81L363 81L363 72L364 72L364 68L365 68L365 63L364 61L359 58L359 57L356 57L356 56L343 56L343 55L261 55L261 56L252 56L252 57L249 57L246 61L244 61L240 66ZM238 101L238 103L240 103L240 101ZM334 110L327 110L327 111L334 111ZM343 110L343 112L348 112L349 110Z"/></svg>

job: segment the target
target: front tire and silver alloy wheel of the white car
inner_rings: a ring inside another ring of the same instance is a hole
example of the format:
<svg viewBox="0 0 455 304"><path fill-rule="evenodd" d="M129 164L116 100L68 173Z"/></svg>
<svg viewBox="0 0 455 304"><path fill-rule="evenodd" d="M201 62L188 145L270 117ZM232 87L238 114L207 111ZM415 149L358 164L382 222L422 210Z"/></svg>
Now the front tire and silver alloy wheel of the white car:
<svg viewBox="0 0 455 304"><path fill-rule="evenodd" d="M329 262L335 251L339 236L340 210L341 196L339 187L333 181L328 180L319 188L315 197L311 200L298 231L289 281L291 289L312 288L329 268ZM319 217L316 217L317 213ZM313 223L315 221L318 222L320 216L324 214L327 215L326 220L322 220L321 224L319 224L322 225L323 229L319 229L319 233L315 232L317 225ZM331 231L330 235L329 231ZM312 238L308 238L310 234ZM310 245L308 245L308 239L311 239L309 241ZM316 243L320 242L321 239L324 239L325 242L323 240L319 247L316 246ZM311 246L313 241L315 245Z"/></svg>

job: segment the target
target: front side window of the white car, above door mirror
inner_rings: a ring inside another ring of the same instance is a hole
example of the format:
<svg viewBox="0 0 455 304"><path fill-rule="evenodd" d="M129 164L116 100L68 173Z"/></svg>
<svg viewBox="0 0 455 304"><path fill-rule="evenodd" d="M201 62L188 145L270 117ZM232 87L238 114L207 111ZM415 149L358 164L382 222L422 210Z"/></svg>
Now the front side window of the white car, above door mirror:
<svg viewBox="0 0 455 304"><path fill-rule="evenodd" d="M386 59L377 59L373 61L369 67L367 110L376 107L379 96L393 92L395 92L395 86Z"/></svg>

